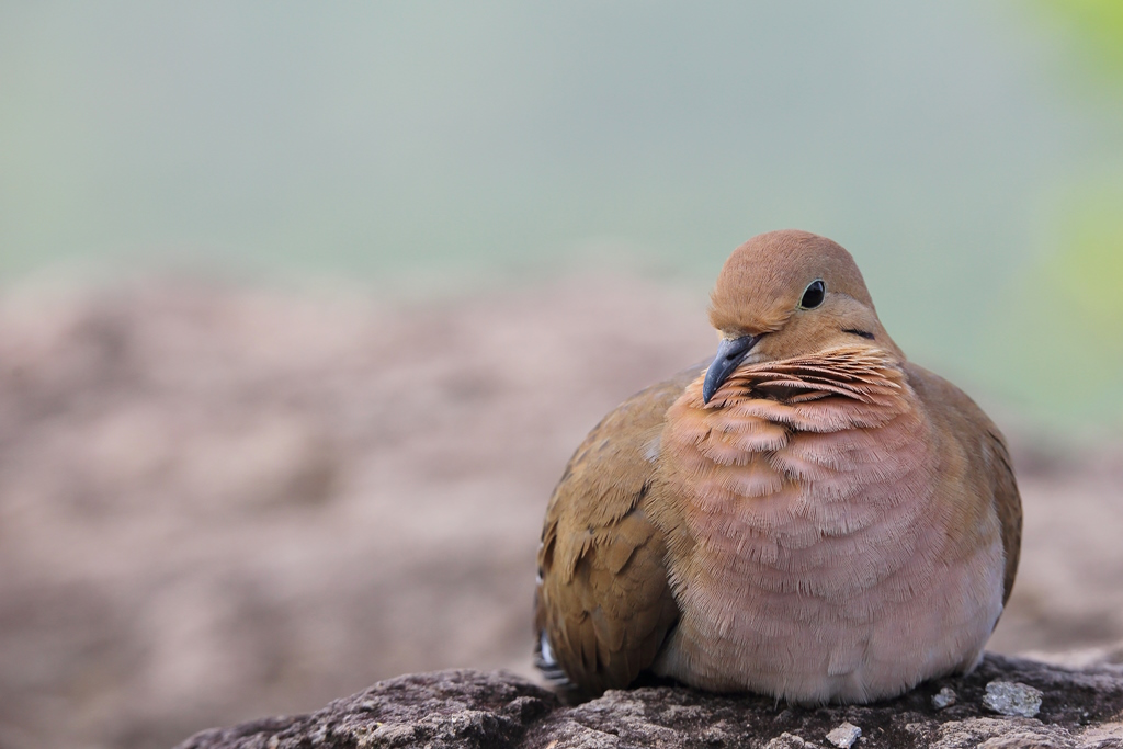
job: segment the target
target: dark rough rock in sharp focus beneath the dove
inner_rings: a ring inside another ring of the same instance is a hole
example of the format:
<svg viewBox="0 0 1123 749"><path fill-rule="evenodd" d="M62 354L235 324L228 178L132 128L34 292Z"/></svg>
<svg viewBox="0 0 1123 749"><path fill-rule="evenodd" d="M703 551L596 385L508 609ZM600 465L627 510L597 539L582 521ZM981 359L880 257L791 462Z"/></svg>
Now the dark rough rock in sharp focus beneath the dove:
<svg viewBox="0 0 1123 749"><path fill-rule="evenodd" d="M952 688L957 698L938 707L933 697ZM1005 694L1012 705L1035 704L1035 718L988 712L995 710L993 693ZM464 669L380 682L308 715L203 731L180 749L822 749L822 737L836 747L862 749L1121 749L1121 721L1123 669L1071 670L995 655L969 676L929 682L896 700L819 707L669 684L610 691L567 705L513 674Z"/></svg>

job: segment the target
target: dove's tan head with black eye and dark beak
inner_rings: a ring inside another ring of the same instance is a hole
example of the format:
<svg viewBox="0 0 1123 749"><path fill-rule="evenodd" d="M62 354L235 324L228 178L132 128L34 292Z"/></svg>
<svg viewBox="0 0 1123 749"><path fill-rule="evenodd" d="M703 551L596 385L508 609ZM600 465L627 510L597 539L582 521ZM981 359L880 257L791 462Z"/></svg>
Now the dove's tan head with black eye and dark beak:
<svg viewBox="0 0 1123 749"><path fill-rule="evenodd" d="M721 342L706 372L705 402L742 364L843 346L877 347L904 359L850 253L807 231L769 231L734 249L710 300Z"/></svg>

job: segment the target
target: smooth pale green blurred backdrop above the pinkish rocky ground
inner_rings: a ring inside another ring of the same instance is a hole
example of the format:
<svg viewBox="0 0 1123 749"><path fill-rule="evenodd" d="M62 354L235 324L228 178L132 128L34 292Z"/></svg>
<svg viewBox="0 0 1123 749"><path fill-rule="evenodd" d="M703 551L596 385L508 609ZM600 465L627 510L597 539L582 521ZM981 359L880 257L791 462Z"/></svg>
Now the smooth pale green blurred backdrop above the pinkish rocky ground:
<svg viewBox="0 0 1123 749"><path fill-rule="evenodd" d="M1123 3L0 3L9 287L701 292L784 227L913 358L1117 430Z"/></svg>

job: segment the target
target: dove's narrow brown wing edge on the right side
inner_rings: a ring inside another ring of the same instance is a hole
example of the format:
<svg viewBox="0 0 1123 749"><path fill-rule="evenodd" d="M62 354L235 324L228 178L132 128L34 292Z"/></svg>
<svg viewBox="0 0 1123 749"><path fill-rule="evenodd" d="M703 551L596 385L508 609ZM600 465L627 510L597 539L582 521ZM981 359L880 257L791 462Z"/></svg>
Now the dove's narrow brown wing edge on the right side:
<svg viewBox="0 0 1123 749"><path fill-rule="evenodd" d="M965 523L973 531L985 527L985 512L997 519L1005 554L1002 603L1010 600L1017 575L1022 547L1022 499L1014 481L1006 440L975 401L939 375L909 363L909 383L913 386L933 421L942 441L944 475L969 487L969 496L983 500L964 508L967 515L980 514ZM993 538L993 536L992 536ZM959 539L969 547L970 532Z"/></svg>

